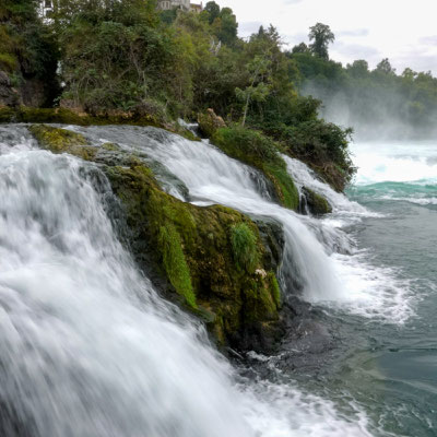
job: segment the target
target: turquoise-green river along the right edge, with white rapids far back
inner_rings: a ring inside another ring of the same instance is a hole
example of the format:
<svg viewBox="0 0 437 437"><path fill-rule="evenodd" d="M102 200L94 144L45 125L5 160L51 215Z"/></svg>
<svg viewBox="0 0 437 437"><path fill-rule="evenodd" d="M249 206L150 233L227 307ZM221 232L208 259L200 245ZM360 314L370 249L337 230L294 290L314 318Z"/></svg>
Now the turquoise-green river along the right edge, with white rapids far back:
<svg viewBox="0 0 437 437"><path fill-rule="evenodd" d="M353 393L375 435L437 436L437 142L353 150L359 170L349 197L377 215L349 232L409 311L400 320L339 315L344 355L323 381Z"/></svg>

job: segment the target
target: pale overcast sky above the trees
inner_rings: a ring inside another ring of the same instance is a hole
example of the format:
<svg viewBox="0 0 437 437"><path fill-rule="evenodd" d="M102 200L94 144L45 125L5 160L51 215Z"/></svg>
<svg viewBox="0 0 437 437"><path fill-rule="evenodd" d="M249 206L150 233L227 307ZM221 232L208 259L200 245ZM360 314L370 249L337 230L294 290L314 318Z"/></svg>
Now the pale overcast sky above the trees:
<svg viewBox="0 0 437 437"><path fill-rule="evenodd" d="M331 26L330 57L343 63L366 59L374 68L389 58L401 73L432 70L437 75L437 0L216 0L234 10L239 34L261 24L276 26L292 48L308 43L309 26ZM205 1L204 1L205 3Z"/></svg>

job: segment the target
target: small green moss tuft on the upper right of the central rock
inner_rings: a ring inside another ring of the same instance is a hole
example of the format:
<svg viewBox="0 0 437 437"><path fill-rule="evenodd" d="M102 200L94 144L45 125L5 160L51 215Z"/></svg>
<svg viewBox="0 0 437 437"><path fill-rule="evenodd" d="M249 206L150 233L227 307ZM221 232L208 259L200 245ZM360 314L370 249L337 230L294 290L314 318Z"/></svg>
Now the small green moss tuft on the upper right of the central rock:
<svg viewBox="0 0 437 437"><path fill-rule="evenodd" d="M259 253L253 232L246 223L239 223L232 228L231 241L237 265L248 273L255 273Z"/></svg>

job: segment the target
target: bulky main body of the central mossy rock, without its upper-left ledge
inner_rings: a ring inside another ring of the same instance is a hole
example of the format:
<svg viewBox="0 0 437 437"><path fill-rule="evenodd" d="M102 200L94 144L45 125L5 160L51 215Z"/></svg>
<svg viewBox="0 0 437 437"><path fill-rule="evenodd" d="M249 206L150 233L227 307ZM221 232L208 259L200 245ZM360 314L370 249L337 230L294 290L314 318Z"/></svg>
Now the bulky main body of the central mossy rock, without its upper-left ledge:
<svg viewBox="0 0 437 437"><path fill-rule="evenodd" d="M218 342L270 343L279 332L277 282L263 261L265 248L253 222L228 208L194 206L166 194L143 164L108 167L106 174L125 205L133 241L149 243L157 268L189 308L208 315ZM249 241L241 238L236 249L235 233L241 228Z"/></svg>

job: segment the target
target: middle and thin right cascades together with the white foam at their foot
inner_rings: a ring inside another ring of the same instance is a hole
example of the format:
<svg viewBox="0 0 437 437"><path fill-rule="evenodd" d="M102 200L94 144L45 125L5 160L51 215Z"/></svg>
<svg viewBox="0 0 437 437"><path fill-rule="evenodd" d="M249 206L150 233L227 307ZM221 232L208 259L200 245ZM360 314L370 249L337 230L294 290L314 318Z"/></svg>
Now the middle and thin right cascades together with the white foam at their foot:
<svg viewBox="0 0 437 437"><path fill-rule="evenodd" d="M317 180L302 163L287 158L300 185L326 194L334 214L323 221L298 215L270 201L260 175L206 142L191 142L154 128L79 129L94 142L116 142L158 161L188 187L197 204L221 203L245 213L273 217L284 228L283 285L292 284L305 299L346 308L369 318L402 321L410 314L405 287L387 269L366 264L342 227L373 215ZM351 256L353 253L353 256Z"/></svg>

